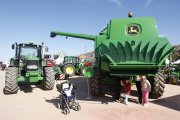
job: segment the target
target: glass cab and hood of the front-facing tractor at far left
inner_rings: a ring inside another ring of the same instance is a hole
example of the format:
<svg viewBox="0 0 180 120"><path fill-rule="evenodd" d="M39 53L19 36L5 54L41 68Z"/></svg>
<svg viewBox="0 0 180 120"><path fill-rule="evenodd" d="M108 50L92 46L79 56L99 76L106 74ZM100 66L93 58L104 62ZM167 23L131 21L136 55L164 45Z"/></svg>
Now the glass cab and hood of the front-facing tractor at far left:
<svg viewBox="0 0 180 120"><path fill-rule="evenodd" d="M13 44L15 59L11 58L10 66L20 67L21 74L27 70L37 70L42 64L42 46L30 43Z"/></svg>

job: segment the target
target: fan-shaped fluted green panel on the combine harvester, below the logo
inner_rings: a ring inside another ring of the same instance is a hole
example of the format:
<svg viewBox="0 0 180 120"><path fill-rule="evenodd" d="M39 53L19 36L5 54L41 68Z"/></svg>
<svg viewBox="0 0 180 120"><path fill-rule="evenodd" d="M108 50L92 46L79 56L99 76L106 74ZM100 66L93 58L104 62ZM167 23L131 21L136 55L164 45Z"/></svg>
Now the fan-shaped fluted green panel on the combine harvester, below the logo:
<svg viewBox="0 0 180 120"><path fill-rule="evenodd" d="M107 40L96 48L95 53L101 59L103 70L129 74L130 70L154 73L172 50L173 47L166 38L154 38L154 40L136 41Z"/></svg>

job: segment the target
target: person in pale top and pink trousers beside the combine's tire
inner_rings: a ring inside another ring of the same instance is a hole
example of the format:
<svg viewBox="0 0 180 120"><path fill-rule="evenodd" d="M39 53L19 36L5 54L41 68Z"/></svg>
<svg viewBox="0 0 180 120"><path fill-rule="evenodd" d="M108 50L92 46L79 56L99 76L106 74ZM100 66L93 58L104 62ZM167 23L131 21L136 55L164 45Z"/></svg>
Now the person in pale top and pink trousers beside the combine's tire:
<svg viewBox="0 0 180 120"><path fill-rule="evenodd" d="M141 90L142 90L142 105L147 106L149 92L151 92L151 84L144 75L142 76L142 80L141 80Z"/></svg>

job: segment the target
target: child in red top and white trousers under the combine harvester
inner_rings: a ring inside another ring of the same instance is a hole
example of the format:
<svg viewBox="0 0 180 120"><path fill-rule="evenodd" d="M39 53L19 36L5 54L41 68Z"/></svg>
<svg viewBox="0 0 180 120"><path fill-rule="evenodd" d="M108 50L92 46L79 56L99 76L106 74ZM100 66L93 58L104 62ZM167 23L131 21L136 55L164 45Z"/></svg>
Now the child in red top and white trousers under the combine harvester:
<svg viewBox="0 0 180 120"><path fill-rule="evenodd" d="M122 85L124 86L123 87L123 90L124 90L124 103L127 105L128 104L128 98L129 98L129 95L131 93L131 81L130 80L125 80Z"/></svg>

